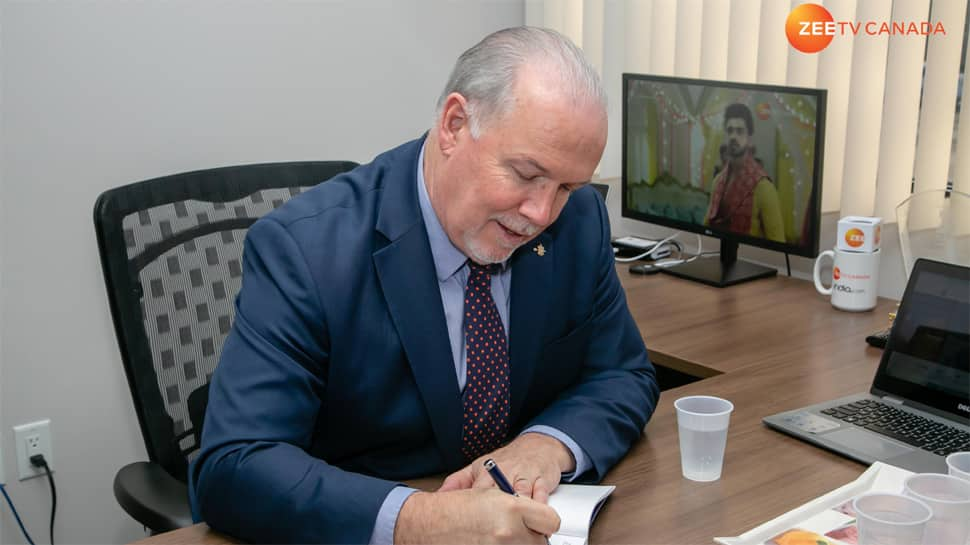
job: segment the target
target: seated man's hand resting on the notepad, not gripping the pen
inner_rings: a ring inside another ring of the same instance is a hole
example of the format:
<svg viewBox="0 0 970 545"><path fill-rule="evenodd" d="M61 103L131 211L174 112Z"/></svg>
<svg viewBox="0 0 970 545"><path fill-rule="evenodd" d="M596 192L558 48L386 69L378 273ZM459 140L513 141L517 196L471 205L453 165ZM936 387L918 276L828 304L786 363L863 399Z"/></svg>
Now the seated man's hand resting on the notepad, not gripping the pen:
<svg viewBox="0 0 970 545"><path fill-rule="evenodd" d="M489 458L495 460L520 496L542 503L548 503L549 494L559 486L560 476L576 468L572 453L558 439L541 433L524 433L448 475L438 491L495 486L484 465Z"/></svg>

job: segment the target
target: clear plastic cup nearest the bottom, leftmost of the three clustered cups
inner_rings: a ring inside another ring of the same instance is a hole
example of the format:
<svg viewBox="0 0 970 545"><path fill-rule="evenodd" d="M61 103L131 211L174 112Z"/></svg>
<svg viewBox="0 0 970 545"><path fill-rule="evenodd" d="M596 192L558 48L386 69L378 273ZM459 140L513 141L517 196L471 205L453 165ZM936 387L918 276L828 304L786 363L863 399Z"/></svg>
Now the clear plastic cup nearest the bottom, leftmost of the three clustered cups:
<svg viewBox="0 0 970 545"><path fill-rule="evenodd" d="M852 500L859 545L919 545L933 516L925 502L902 494L876 492ZM928 541L925 543L929 543Z"/></svg>

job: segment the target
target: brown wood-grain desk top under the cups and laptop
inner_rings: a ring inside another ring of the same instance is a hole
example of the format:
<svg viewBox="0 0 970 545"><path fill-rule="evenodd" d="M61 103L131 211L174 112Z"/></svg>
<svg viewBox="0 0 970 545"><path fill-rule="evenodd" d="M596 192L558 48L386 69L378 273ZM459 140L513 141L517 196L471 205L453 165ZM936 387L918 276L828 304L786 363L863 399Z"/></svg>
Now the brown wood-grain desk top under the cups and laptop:
<svg viewBox="0 0 970 545"><path fill-rule="evenodd" d="M771 431L761 418L866 390L880 350L865 336L885 327L894 301L872 312L829 305L809 282L778 277L725 289L618 268L630 310L660 364L709 377L661 395L644 438L604 482L616 491L593 526L592 543L711 543L740 534L843 485L864 466ZM734 402L721 480L680 474L680 396ZM434 479L417 481L431 488ZM232 541L204 524L138 542Z"/></svg>

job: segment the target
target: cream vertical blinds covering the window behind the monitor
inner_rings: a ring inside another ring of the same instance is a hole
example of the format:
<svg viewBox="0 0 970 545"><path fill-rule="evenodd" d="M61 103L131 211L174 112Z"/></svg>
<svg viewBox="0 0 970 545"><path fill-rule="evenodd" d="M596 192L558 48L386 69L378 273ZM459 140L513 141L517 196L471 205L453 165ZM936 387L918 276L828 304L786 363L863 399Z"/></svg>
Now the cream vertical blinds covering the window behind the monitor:
<svg viewBox="0 0 970 545"><path fill-rule="evenodd" d="M527 0L526 24L562 32L599 70L620 174L621 74L649 73L828 90L822 211L895 221L915 191L970 193L970 114L956 118L967 0L816 0L836 21L940 22L946 35L837 35L819 53L788 44L794 0ZM959 127L959 134L957 128ZM950 165L952 161L953 165Z"/></svg>

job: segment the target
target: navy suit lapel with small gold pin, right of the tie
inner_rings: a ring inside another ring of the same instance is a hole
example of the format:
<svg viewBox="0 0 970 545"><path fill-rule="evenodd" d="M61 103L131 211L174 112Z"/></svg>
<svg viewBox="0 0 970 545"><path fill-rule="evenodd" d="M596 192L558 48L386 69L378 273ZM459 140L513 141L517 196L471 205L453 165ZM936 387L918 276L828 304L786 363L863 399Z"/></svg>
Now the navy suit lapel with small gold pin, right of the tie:
<svg viewBox="0 0 970 545"><path fill-rule="evenodd" d="M525 394L532 385L539 360L543 324L549 308L546 287L552 277L555 258L552 237L548 233L542 233L512 257L509 356L512 367L513 423L516 422L525 401Z"/></svg>

